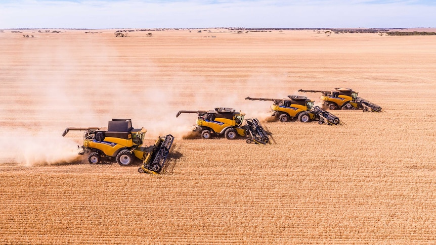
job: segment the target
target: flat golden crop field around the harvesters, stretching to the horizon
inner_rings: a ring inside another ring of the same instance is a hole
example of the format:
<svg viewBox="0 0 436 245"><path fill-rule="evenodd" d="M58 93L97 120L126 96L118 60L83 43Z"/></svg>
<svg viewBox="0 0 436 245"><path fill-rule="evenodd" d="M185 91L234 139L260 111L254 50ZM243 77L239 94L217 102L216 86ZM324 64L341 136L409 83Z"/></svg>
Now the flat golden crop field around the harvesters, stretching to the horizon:
<svg viewBox="0 0 436 245"><path fill-rule="evenodd" d="M436 242L436 36L20 31L0 32L0 243ZM244 100L320 104L297 90L334 87L384 112L280 123ZM176 118L215 107L258 118L270 143L193 138L196 114ZM176 137L162 174L90 165L83 132L62 137L112 118Z"/></svg>

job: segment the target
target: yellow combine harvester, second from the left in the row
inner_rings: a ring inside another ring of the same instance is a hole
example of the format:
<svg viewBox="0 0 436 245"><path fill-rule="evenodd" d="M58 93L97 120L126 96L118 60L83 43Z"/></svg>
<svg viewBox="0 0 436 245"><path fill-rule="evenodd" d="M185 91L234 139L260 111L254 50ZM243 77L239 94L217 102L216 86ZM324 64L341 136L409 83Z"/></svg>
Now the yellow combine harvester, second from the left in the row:
<svg viewBox="0 0 436 245"><path fill-rule="evenodd" d="M194 132L199 132L201 137L208 139L213 134L223 135L227 139L235 139L238 135L242 137L248 136L247 143L261 143L266 144L269 142L265 130L260 126L257 119L245 120L244 113L236 112L233 108L220 107L210 111L179 111L176 117L182 113L196 113L197 120L194 125Z"/></svg>

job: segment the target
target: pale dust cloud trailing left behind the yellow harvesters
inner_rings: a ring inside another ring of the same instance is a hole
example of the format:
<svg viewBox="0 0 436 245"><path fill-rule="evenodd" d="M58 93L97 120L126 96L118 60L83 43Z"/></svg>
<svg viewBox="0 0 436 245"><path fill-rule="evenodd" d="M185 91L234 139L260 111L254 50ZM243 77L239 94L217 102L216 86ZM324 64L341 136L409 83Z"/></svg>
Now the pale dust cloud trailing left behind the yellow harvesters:
<svg viewBox="0 0 436 245"><path fill-rule="evenodd" d="M63 130L107 127L112 118L132 119L135 128L148 130L149 139L166 134L179 139L195 138L192 127L197 115L182 114L177 118L180 110L230 107L245 113L245 118L270 121L271 102L244 98L288 95L281 93L286 88L283 77L209 80L208 86L220 87L224 83L230 89L198 89L199 85L191 81L192 74L179 72L177 76L162 78L151 61L142 61L141 67L135 67L136 60L119 60L117 52L110 48L87 45L81 52L92 50L94 56L87 56L86 64L109 65L94 70L83 66L80 56L74 56L72 50L41 50L34 54L38 58L31 61L25 75L11 78L14 86L0 88L2 94L11 97L0 100L0 164L32 166L76 161L83 132L62 137Z"/></svg>

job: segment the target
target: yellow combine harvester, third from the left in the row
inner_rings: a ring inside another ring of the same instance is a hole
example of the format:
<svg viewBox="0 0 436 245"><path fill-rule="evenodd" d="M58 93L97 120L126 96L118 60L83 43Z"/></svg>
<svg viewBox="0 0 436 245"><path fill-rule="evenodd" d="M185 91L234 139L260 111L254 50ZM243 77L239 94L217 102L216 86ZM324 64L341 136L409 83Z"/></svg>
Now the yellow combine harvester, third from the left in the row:
<svg viewBox="0 0 436 245"><path fill-rule="evenodd" d="M291 119L298 119L300 122L318 121L319 124L338 125L339 118L324 111L319 107L314 107L314 102L306 96L288 95L289 99L272 98L252 98L246 97L250 101L273 101L271 111L273 116L278 116L280 122L287 122Z"/></svg>

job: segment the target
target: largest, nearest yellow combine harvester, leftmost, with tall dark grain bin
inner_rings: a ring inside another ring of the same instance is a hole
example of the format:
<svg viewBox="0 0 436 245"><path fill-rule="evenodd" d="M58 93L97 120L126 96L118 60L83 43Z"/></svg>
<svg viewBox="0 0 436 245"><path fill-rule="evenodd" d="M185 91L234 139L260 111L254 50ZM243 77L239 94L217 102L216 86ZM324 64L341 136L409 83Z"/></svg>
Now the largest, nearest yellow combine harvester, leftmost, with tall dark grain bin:
<svg viewBox="0 0 436 245"><path fill-rule="evenodd" d="M161 171L174 140L174 137L168 134L158 137L154 145L144 147L142 145L147 130L133 128L131 119L112 119L107 128L69 127L62 136L73 130L85 131L82 152L79 154L89 153L88 161L91 164L115 158L119 165L127 166L138 158L143 162L139 172L153 174Z"/></svg>

